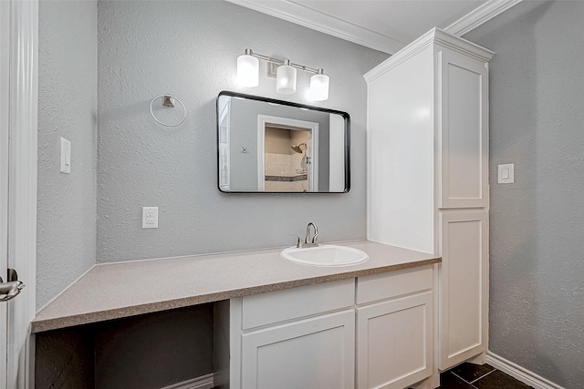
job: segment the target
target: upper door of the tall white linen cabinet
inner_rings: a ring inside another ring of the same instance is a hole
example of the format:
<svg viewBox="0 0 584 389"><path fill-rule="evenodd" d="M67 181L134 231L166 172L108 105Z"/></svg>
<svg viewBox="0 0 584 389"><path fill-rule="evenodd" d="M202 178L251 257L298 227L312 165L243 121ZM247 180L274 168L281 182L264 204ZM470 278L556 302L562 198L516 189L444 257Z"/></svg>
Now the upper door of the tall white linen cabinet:
<svg viewBox="0 0 584 389"><path fill-rule="evenodd" d="M488 205L488 75L485 63L438 52L439 208Z"/></svg>

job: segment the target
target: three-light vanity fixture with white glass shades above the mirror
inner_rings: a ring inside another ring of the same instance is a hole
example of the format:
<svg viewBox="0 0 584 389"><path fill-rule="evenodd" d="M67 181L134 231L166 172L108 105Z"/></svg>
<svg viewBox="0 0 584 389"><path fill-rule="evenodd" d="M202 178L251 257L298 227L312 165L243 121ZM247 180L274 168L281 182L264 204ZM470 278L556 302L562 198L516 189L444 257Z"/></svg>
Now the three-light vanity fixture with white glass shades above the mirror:
<svg viewBox="0 0 584 389"><path fill-rule="evenodd" d="M313 73L310 77L310 90L308 97L315 101L328 99L329 78L323 68L307 67L291 62L289 59L278 59L264 56L245 49L243 56L237 57L237 78L244 87L257 87L259 85L259 61L261 59L276 66L276 92L283 95L296 93L297 69Z"/></svg>

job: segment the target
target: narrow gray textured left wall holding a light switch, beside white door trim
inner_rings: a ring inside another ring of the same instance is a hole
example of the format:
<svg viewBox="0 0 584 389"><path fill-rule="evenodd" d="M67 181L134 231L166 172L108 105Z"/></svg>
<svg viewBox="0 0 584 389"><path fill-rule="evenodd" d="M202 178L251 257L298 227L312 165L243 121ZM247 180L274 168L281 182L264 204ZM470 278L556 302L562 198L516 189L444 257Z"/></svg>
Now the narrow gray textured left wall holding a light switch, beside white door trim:
<svg viewBox="0 0 584 389"><path fill-rule="evenodd" d="M97 5L41 1L38 26L36 307L96 259ZM59 172L71 141L71 174Z"/></svg>

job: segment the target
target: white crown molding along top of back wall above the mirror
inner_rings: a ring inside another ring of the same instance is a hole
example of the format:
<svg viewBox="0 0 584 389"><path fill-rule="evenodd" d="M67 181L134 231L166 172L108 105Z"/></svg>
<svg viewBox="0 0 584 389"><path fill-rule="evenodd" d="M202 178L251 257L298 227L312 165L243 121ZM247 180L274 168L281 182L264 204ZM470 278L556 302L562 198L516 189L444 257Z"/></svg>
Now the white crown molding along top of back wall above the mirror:
<svg viewBox="0 0 584 389"><path fill-rule="evenodd" d="M270 2L261 0L226 1L388 54L398 52L407 44L407 42L401 42L391 36L384 36L368 28L349 23L339 17L328 15L293 0Z"/></svg>

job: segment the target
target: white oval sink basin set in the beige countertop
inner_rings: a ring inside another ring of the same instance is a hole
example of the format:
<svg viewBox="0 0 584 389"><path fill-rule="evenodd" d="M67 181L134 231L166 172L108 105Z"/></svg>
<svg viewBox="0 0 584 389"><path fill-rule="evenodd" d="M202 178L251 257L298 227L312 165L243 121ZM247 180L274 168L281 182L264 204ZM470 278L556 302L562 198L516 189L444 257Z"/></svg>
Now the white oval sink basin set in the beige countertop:
<svg viewBox="0 0 584 389"><path fill-rule="evenodd" d="M334 244L304 249L288 247L280 255L285 260L312 266L347 266L369 260L369 255L363 251Z"/></svg>

